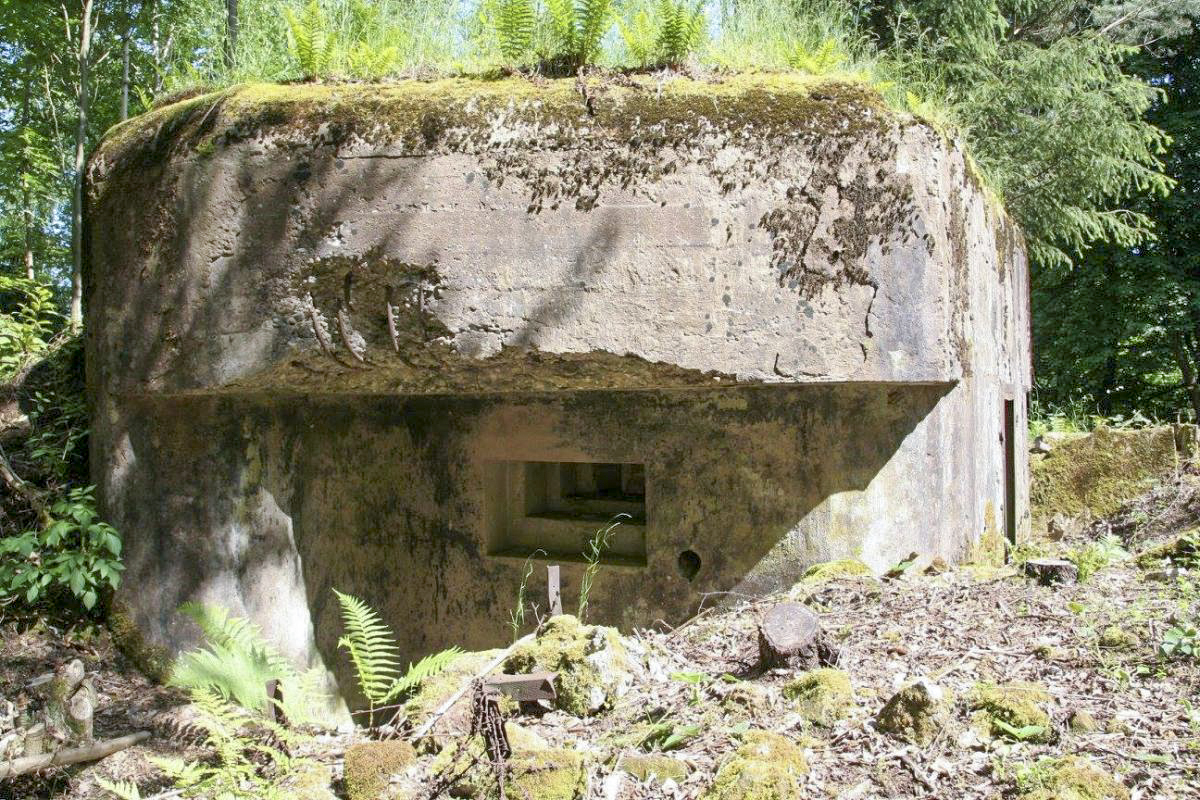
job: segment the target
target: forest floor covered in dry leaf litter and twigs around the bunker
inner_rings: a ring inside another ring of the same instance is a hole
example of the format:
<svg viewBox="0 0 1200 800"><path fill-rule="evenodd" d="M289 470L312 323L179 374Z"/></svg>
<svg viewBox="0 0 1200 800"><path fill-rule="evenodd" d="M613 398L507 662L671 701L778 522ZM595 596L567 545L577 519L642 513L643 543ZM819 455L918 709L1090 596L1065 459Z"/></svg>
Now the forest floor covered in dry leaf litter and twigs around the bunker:
<svg viewBox="0 0 1200 800"><path fill-rule="evenodd" d="M758 796L712 788L722 775L730 784L731 770L744 777L758 769L738 766L734 756L739 747L746 756L743 745L758 730L781 734L802 752L790 778L798 793L788 796L1200 798L1200 657L1159 651L1170 628L1198 618L1200 569L1194 560L1180 566L1136 558L1198 523L1200 476L1183 471L1112 519L1025 548L1078 553L1109 537L1112 560L1078 584L1039 585L1012 566L918 564L882 579L827 570L786 597L708 609L673 631L623 634L628 672L606 710L572 716L511 709L509 738L517 751L581 756L571 762L578 780L566 796L607 800ZM1128 557L1112 549L1116 540ZM818 613L840 650L836 667L848 676L847 697L797 698L797 673L758 668L758 622L785 600ZM0 782L0 798L106 796L97 776L132 780L151 796L169 787L155 777L148 756L199 752L180 733L186 698L138 674L107 634L19 620L0 620L0 697L19 705L31 678L77 657L95 673L97 735L155 734L92 765ZM893 738L875 722L887 700L916 679L946 697L936 733L922 745ZM980 693L1013 685L1045 712L1045 724L1012 717L1008 732L989 727ZM440 697L421 699L427 710ZM428 796L438 786L455 795L490 792L487 763L470 766L470 757L456 760L448 756L454 747L445 747L469 739L469 710L443 717L419 747L426 754L394 776L388 792L403 798ZM319 741L317 757L332 768L334 792L344 796L342 756L350 736ZM443 753L433 754L439 748ZM522 796L522 763L532 762L516 758L510 766L510 798ZM1102 781L1097 794L1070 794L1066 772L1056 771L1062 766L1090 766L1114 782L1104 789ZM455 770L466 770L457 782L448 777Z"/></svg>

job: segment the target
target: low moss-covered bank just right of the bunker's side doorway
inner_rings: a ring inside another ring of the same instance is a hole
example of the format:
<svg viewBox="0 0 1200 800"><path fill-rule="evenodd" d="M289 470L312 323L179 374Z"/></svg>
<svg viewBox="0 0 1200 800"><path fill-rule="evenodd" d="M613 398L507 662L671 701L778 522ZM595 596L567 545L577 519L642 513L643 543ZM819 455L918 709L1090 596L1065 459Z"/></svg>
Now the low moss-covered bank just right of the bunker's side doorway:
<svg viewBox="0 0 1200 800"><path fill-rule="evenodd" d="M1030 464L1034 524L1044 525L1056 513L1112 515L1176 464L1175 432L1169 427L1102 427L1062 438Z"/></svg>

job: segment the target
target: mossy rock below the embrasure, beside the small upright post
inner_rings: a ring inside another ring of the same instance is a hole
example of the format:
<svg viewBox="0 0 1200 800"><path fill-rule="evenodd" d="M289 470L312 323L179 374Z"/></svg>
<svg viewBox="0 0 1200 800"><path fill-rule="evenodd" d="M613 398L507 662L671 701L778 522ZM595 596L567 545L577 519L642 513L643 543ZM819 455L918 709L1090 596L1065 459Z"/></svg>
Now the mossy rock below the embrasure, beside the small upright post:
<svg viewBox="0 0 1200 800"><path fill-rule="evenodd" d="M581 625L574 616L552 616L538 638L504 662L509 673L548 669L558 673L559 709L576 716L612 705L628 690L630 660L616 628Z"/></svg>

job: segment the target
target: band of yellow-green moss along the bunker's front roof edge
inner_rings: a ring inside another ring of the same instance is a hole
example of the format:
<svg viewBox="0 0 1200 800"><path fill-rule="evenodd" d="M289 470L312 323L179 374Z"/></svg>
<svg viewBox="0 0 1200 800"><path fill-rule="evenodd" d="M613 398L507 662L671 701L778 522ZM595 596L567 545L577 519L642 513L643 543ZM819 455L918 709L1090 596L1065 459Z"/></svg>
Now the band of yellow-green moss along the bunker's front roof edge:
<svg viewBox="0 0 1200 800"><path fill-rule="evenodd" d="M586 92L586 95L584 95ZM892 113L863 83L785 73L745 73L721 79L649 77L494 80L445 78L392 84L241 84L152 109L114 126L96 156L109 163L164 156L172 144L206 148L258 136L296 134L298 140L336 144L354 138L395 143L415 152L438 146L493 145L466 131L488 131L496 118L528 121L547 146L580 128L629 138L640 130L694 134L726 122L761 136L845 136L875 126ZM448 136L456 131L458 136Z"/></svg>

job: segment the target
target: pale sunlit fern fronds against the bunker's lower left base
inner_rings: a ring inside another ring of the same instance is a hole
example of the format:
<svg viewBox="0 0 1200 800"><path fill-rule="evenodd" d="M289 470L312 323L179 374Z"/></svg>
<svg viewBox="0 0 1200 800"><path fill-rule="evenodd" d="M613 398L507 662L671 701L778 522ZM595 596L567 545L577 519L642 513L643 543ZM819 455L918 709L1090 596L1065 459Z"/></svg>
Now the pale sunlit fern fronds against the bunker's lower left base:
<svg viewBox="0 0 1200 800"><path fill-rule="evenodd" d="M298 723L313 721L316 706L324 699L318 688L322 673L296 670L263 638L247 619L233 616L220 606L185 603L180 612L204 633L202 648L184 652L170 670L170 684L193 694L215 693L223 700L265 716L275 700L266 697L266 681L278 680L282 711Z"/></svg>

